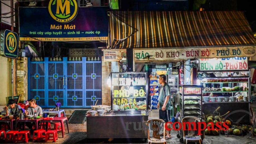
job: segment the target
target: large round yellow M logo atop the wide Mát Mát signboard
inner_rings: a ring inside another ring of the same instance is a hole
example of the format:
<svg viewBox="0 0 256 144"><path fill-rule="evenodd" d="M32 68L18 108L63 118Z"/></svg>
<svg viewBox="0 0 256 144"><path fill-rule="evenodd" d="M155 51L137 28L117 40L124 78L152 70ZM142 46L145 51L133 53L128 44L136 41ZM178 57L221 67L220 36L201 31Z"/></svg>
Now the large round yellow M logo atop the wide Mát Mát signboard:
<svg viewBox="0 0 256 144"><path fill-rule="evenodd" d="M50 0L48 10L53 19L67 23L76 17L78 6L75 0Z"/></svg>

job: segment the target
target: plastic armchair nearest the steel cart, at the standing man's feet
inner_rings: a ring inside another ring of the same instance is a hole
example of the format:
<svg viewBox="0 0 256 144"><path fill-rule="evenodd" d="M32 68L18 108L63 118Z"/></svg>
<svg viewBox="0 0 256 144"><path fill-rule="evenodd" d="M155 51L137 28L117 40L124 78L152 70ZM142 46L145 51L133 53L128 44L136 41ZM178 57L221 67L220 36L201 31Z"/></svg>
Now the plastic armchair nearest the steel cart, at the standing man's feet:
<svg viewBox="0 0 256 144"><path fill-rule="evenodd" d="M147 126L148 123L150 123L150 121L152 121L152 128L153 128L153 136L152 138L150 138L149 135L149 129L148 129L148 144L152 144L152 143L164 143L166 144L166 140L165 140L165 122L162 119L149 119L147 122ZM160 129L157 125L157 123L164 123L164 137L160 138Z"/></svg>

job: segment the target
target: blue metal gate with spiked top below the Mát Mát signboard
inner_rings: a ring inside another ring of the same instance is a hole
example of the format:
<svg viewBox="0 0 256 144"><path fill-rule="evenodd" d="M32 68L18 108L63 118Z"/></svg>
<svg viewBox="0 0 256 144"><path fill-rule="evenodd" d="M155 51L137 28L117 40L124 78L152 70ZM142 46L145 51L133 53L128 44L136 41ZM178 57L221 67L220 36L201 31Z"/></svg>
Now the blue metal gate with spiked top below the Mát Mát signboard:
<svg viewBox="0 0 256 144"><path fill-rule="evenodd" d="M101 101L101 61L28 60L28 97L38 105L52 108L61 102L65 108L89 108Z"/></svg>

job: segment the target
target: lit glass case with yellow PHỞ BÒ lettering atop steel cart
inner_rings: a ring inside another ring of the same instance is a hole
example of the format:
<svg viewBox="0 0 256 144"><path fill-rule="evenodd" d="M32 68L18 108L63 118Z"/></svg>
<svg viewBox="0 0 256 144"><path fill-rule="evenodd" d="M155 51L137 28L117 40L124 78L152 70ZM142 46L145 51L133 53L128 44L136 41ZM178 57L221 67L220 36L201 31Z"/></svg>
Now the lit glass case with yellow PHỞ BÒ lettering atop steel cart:
<svg viewBox="0 0 256 144"><path fill-rule="evenodd" d="M111 73L111 110L147 110L147 76L147 72Z"/></svg>

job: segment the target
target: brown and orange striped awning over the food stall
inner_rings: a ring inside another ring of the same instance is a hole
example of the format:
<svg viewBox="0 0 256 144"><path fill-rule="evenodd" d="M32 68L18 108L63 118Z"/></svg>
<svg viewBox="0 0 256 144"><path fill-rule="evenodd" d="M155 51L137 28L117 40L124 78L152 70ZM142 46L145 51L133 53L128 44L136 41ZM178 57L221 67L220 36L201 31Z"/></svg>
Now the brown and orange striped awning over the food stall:
<svg viewBox="0 0 256 144"><path fill-rule="evenodd" d="M241 11L110 11L109 47L256 45Z"/></svg>

